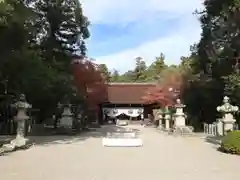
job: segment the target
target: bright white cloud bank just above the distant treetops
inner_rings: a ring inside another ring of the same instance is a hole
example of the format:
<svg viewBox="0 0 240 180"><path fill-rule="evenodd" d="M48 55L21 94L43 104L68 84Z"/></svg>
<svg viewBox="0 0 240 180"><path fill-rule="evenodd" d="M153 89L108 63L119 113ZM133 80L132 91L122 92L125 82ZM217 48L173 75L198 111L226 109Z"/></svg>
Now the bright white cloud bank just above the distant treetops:
<svg viewBox="0 0 240 180"><path fill-rule="evenodd" d="M188 20L187 22L191 21ZM109 69L117 69L120 72L124 72L135 66L135 57L143 57L149 65L162 52L166 56L167 64L178 64L181 56L189 55L190 45L198 42L199 38L200 27L198 22L186 23L175 34L146 42L138 47L122 52L98 57L97 63L104 63L108 65Z"/></svg>

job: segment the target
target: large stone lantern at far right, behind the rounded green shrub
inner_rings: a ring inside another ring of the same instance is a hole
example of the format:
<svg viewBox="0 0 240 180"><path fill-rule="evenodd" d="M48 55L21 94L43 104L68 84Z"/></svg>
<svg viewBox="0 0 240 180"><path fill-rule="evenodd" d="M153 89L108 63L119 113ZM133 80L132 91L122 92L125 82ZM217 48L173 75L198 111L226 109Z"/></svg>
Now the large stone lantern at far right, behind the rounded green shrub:
<svg viewBox="0 0 240 180"><path fill-rule="evenodd" d="M236 119L234 119L233 114L238 110L238 106L233 106L230 104L229 97L227 96L223 98L223 105L217 107L217 111L223 114L221 121L223 124L224 133L234 129Z"/></svg>

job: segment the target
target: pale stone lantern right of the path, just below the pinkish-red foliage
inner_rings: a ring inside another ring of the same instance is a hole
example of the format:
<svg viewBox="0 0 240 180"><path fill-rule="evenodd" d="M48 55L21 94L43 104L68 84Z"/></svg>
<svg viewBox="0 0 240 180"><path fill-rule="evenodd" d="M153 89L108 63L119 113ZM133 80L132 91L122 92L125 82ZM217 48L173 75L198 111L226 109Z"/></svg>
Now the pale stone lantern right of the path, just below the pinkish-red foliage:
<svg viewBox="0 0 240 180"><path fill-rule="evenodd" d="M183 127L186 126L186 115L183 112L183 108L186 105L181 103L180 99L177 99L177 103L175 105L176 113L174 114L174 125L175 127Z"/></svg>

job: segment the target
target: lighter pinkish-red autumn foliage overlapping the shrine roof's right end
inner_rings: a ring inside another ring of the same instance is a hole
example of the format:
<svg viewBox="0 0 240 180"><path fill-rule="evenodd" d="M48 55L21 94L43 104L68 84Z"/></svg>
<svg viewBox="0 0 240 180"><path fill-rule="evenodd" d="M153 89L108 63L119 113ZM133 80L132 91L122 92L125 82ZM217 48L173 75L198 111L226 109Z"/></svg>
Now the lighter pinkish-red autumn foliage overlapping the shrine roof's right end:
<svg viewBox="0 0 240 180"><path fill-rule="evenodd" d="M148 89L146 95L142 97L145 103L156 103L160 106L173 106L175 104L182 87L182 75L179 71L174 73L169 71L162 78L156 87Z"/></svg>

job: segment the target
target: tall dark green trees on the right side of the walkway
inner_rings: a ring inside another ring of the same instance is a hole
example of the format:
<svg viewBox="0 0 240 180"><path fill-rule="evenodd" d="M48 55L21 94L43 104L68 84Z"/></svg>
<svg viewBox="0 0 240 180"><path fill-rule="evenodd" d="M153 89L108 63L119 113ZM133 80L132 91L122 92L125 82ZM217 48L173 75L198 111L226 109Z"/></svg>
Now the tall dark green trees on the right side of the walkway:
<svg viewBox="0 0 240 180"><path fill-rule="evenodd" d="M216 106L224 95L229 95L234 103L240 102L239 2L206 0L205 10L198 12L202 34L200 42L192 47L194 60L185 102L191 115L200 121L216 119Z"/></svg>

